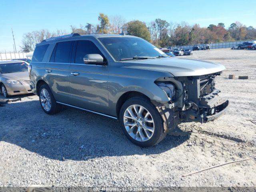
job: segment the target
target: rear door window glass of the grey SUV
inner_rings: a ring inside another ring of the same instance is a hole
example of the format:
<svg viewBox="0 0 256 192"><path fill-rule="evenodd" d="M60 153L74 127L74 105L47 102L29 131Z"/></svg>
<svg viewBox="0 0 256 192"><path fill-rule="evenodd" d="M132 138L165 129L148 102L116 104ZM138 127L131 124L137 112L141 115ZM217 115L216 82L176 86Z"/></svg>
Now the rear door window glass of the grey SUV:
<svg viewBox="0 0 256 192"><path fill-rule="evenodd" d="M70 63L72 41L59 42L56 44L54 62ZM54 53L53 53L54 54Z"/></svg>

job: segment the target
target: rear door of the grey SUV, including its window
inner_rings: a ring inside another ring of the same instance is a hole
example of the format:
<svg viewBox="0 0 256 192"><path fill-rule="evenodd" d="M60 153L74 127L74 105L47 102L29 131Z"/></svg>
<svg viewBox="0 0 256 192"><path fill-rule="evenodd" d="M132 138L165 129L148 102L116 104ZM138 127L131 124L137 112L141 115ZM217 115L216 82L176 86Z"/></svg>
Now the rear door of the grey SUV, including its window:
<svg viewBox="0 0 256 192"><path fill-rule="evenodd" d="M45 66L45 78L58 102L68 103L71 98L68 79L73 46L74 41L56 43L50 62Z"/></svg>

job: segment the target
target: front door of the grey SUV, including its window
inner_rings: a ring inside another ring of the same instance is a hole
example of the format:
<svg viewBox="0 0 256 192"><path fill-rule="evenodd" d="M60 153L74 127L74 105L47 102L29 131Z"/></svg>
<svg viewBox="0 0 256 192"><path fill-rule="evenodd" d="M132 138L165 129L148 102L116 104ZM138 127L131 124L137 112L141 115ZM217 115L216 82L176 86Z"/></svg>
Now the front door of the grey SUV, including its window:
<svg viewBox="0 0 256 192"><path fill-rule="evenodd" d="M106 58L92 40L75 42L70 64L70 93L73 106L108 114L108 66L84 64L86 54L100 54Z"/></svg>

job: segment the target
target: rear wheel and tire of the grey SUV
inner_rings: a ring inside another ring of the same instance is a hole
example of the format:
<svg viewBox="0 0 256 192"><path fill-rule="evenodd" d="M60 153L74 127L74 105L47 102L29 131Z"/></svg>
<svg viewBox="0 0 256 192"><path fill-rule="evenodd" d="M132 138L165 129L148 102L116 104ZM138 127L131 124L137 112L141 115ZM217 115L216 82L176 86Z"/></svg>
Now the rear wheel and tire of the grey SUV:
<svg viewBox="0 0 256 192"><path fill-rule="evenodd" d="M47 84L42 84L39 89L39 102L46 114L56 114L60 111L61 105L58 104Z"/></svg>

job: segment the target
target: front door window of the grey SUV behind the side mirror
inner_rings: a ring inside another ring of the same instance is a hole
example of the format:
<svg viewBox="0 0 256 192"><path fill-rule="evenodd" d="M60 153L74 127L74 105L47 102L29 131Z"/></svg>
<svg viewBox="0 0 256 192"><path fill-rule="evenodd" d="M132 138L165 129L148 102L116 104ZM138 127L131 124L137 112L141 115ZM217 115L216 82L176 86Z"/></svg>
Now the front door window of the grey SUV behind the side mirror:
<svg viewBox="0 0 256 192"><path fill-rule="evenodd" d="M100 54L104 58L102 52L100 52L98 47L92 41L89 41L89 40L78 41L77 47L76 47L75 63L84 64L84 56L87 54ZM105 58L104 58L104 61L106 61Z"/></svg>

